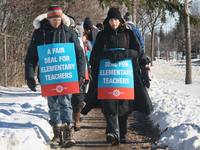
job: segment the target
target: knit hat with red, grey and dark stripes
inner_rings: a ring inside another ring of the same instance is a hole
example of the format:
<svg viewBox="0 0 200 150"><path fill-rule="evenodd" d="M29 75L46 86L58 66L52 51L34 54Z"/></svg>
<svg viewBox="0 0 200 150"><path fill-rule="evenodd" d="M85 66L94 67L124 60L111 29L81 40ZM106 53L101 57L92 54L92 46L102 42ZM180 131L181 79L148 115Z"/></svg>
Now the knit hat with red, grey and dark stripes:
<svg viewBox="0 0 200 150"><path fill-rule="evenodd" d="M62 8L60 6L50 6L47 10L47 18L61 18L62 17Z"/></svg>

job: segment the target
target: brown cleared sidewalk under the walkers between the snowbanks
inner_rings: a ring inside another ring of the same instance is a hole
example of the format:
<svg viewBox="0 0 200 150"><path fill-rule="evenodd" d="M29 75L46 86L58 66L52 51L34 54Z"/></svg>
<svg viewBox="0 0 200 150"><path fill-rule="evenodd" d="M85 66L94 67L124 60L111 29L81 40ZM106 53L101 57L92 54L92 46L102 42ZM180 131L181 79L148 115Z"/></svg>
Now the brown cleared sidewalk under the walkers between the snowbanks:
<svg viewBox="0 0 200 150"><path fill-rule="evenodd" d="M82 117L82 129L73 133L76 146L66 148L70 150L151 150L159 138L158 129L152 127L151 121L141 113L133 112L128 119L127 143L111 146L106 142L106 122L101 109L92 109ZM66 150L55 148L54 150ZM164 148L165 149L165 148ZM158 149L157 149L158 150Z"/></svg>

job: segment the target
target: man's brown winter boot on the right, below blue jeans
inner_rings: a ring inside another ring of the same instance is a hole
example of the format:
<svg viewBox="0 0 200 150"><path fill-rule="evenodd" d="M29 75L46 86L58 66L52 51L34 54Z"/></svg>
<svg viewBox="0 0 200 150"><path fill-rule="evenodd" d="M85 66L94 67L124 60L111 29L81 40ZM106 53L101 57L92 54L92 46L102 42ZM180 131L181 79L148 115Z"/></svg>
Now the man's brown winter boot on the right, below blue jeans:
<svg viewBox="0 0 200 150"><path fill-rule="evenodd" d="M72 125L63 124L63 147L69 148L76 145L76 142L72 139Z"/></svg>

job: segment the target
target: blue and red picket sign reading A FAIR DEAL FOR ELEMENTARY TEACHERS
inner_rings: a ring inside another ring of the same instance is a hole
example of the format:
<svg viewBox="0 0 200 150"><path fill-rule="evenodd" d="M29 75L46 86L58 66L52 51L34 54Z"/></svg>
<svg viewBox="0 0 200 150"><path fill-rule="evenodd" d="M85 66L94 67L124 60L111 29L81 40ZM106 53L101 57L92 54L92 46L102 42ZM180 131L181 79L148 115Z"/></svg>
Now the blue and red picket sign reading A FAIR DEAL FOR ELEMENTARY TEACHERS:
<svg viewBox="0 0 200 150"><path fill-rule="evenodd" d="M37 47L42 97L79 93L74 43Z"/></svg>

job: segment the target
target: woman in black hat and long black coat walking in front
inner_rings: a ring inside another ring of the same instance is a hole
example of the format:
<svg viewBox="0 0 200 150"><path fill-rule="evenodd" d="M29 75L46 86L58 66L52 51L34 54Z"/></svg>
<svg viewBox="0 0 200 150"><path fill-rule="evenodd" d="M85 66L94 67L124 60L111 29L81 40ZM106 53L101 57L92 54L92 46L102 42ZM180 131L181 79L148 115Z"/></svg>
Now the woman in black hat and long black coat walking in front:
<svg viewBox="0 0 200 150"><path fill-rule="evenodd" d="M94 107L94 104L102 102L102 112L107 123L106 140L114 146L119 143L126 143L127 119L133 110L139 110L146 115L152 111L152 104L140 75L140 66L148 67L149 60L146 58L135 34L126 29L117 8L109 10L104 25L105 29L98 33L91 53L90 64L93 81L86 95L87 104L82 110L82 114L87 114ZM125 48L125 50L103 51L104 48ZM126 58L132 59L134 68L135 99L97 100L100 60L109 59L111 63L115 63Z"/></svg>

